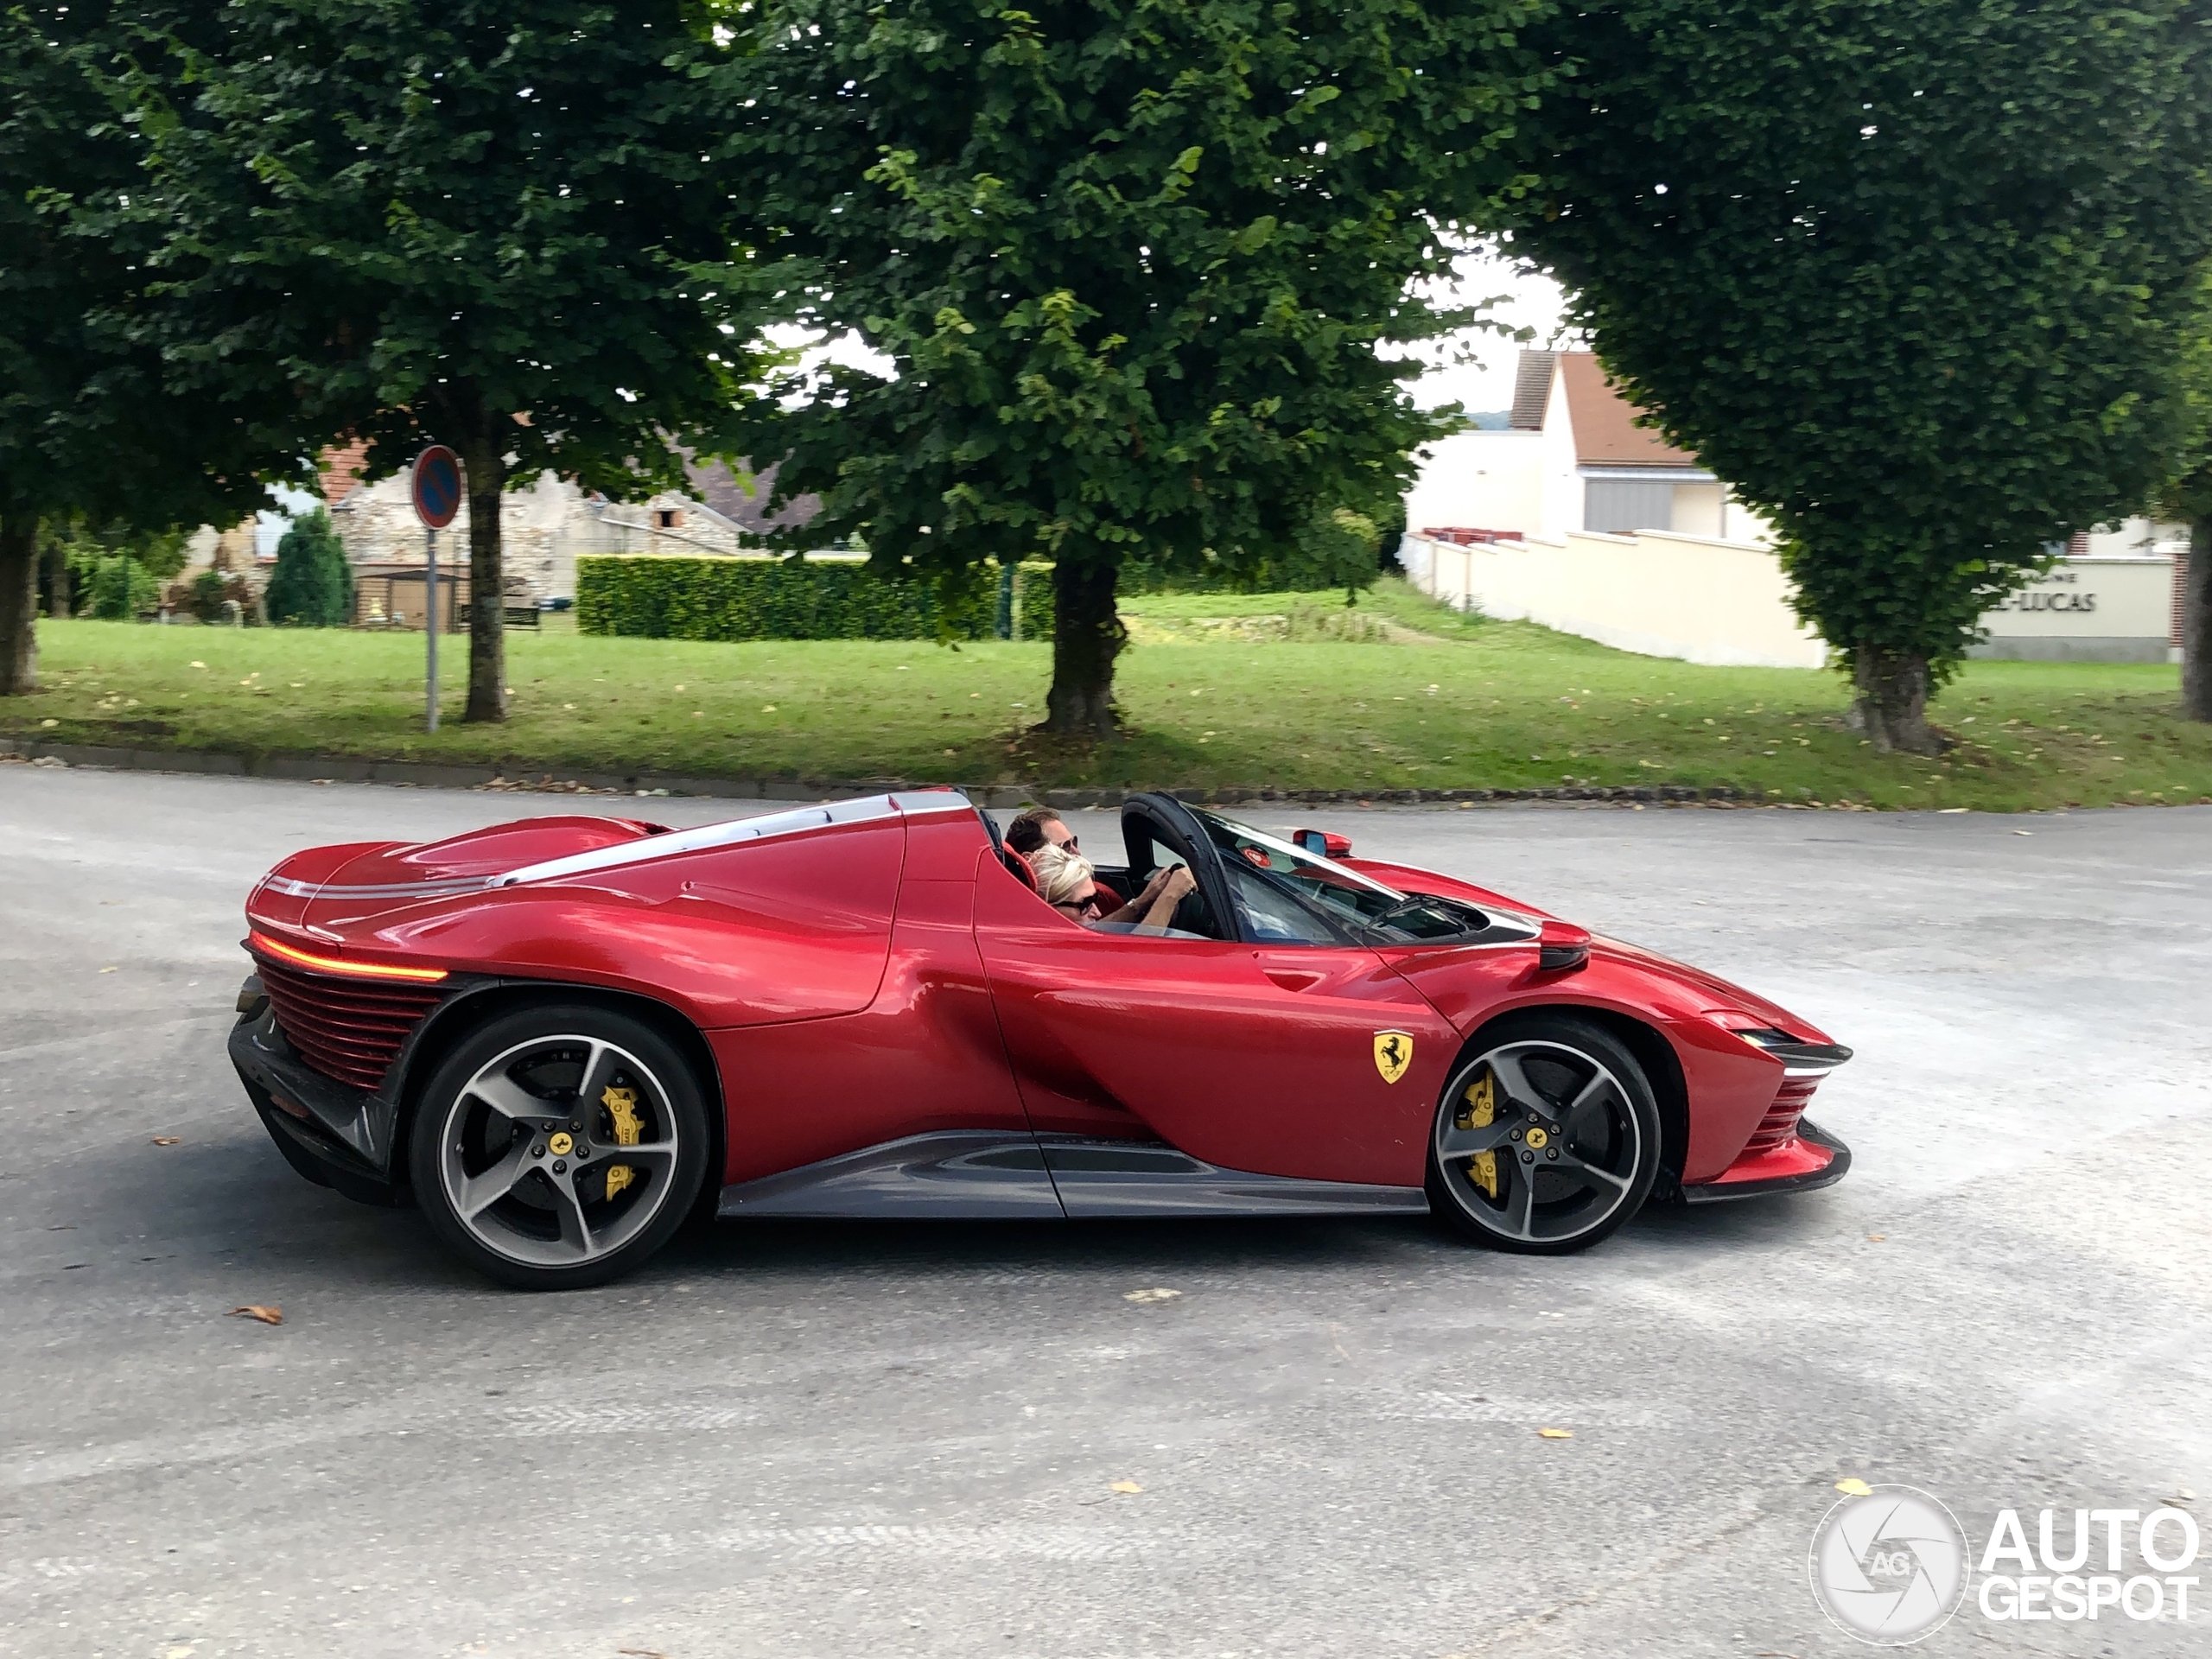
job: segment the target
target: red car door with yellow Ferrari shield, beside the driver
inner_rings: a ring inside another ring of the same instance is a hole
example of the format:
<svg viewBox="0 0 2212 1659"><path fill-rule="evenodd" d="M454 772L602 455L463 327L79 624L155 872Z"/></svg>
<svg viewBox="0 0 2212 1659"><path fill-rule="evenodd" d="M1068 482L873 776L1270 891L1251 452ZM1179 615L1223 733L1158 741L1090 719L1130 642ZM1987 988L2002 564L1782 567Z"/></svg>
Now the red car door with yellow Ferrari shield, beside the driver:
<svg viewBox="0 0 2212 1659"><path fill-rule="evenodd" d="M1130 880L1181 860L1177 931L1079 927L987 869L975 938L1031 1126L1230 1170L1416 1188L1451 1026L1376 951L1267 907L1175 801L1124 810Z"/></svg>

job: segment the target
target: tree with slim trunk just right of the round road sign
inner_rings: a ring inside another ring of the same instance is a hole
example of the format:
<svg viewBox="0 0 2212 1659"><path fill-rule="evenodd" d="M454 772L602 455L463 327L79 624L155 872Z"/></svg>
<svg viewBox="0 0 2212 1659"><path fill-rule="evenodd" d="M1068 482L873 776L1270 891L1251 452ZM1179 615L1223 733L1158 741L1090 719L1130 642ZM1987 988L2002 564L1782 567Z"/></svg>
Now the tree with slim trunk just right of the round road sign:
<svg viewBox="0 0 2212 1659"><path fill-rule="evenodd" d="M719 49L675 0L206 18L173 2L166 60L133 88L150 175L133 230L164 276L150 336L299 440L365 438L365 478L429 440L460 453L467 719L504 719L507 480L681 484L670 440L737 396L743 354L681 274L728 263L690 77Z"/></svg>

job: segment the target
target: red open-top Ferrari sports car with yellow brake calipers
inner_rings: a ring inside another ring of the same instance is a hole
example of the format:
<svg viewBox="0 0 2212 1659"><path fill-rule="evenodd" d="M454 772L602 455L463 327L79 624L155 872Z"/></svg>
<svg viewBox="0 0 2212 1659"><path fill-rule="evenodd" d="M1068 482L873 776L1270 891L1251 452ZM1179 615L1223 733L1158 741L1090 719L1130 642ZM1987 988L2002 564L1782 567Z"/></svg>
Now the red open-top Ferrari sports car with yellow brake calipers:
<svg viewBox="0 0 2212 1659"><path fill-rule="evenodd" d="M1099 887L1170 878L1141 922L1068 920L949 790L316 847L248 898L230 1055L301 1175L531 1287L714 1210L1433 1210L1564 1252L1849 1166L1803 1119L1849 1048L1725 980L1164 794L1121 836Z"/></svg>

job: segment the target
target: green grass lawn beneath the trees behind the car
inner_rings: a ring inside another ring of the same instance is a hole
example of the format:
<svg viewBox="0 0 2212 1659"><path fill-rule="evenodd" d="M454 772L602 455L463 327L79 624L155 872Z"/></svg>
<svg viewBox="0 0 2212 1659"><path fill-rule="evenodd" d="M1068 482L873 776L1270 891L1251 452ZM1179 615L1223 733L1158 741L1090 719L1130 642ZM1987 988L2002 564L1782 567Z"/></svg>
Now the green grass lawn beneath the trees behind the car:
<svg viewBox="0 0 2212 1659"><path fill-rule="evenodd" d="M1697 668L1458 617L1402 584L1363 595L1124 602L1130 734L1057 745L1051 648L922 641L681 644L511 633L513 717L422 732L422 637L42 622L44 688L0 730L73 743L445 759L511 774L666 770L1037 787L1734 785L1776 801L1989 810L2212 799L2212 728L2174 719L2179 670L1971 664L1936 703L1942 761L1878 757L1843 679ZM1239 622L1243 619L1243 622ZM1387 622L1378 628L1376 619ZM1343 633L1383 635L1347 641Z"/></svg>

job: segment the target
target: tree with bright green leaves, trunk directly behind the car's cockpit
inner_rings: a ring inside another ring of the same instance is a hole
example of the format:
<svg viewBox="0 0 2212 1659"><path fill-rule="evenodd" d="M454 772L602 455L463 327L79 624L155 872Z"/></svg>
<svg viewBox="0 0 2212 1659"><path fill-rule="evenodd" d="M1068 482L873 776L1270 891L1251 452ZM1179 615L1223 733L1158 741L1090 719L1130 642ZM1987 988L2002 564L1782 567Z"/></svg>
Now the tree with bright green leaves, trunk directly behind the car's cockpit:
<svg viewBox="0 0 2212 1659"><path fill-rule="evenodd" d="M1537 84L1535 0L772 0L734 13L730 155L799 316L858 336L776 498L894 573L1055 562L1055 732L1113 730L1124 560L1332 571L1451 429L1378 347ZM799 389L792 380L785 389ZM1371 553L1367 555L1371 557Z"/></svg>

